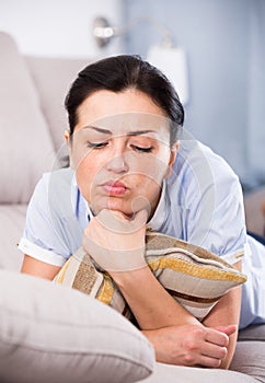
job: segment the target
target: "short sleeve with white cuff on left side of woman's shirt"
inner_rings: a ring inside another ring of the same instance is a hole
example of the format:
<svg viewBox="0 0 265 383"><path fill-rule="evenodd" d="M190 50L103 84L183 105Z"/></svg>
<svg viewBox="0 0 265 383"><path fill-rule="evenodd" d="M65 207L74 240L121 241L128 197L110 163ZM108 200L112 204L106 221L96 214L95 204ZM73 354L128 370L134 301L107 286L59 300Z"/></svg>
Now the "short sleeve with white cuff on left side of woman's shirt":
<svg viewBox="0 0 265 383"><path fill-rule="evenodd" d="M38 260L62 266L70 254L50 214L48 183L49 174L46 173L35 187L19 248Z"/></svg>

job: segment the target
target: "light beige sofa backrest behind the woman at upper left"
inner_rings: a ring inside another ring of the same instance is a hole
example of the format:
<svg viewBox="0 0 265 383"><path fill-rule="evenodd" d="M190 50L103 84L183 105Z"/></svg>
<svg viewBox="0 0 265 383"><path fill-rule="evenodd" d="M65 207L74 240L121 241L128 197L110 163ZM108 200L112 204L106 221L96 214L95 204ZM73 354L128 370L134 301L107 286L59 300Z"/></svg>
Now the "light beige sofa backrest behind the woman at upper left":
<svg viewBox="0 0 265 383"><path fill-rule="evenodd" d="M0 204L27 204L66 154L65 96L89 59L23 57L0 32Z"/></svg>

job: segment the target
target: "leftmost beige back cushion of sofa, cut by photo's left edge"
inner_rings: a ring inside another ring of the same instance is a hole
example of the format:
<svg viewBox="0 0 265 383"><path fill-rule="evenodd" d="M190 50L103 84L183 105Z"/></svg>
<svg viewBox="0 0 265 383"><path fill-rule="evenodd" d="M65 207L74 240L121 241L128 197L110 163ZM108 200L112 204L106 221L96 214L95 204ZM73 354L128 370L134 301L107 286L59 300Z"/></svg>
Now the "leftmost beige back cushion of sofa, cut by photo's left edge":
<svg viewBox="0 0 265 383"><path fill-rule="evenodd" d="M14 40L0 33L0 202L27 202L54 146L34 83Z"/></svg>

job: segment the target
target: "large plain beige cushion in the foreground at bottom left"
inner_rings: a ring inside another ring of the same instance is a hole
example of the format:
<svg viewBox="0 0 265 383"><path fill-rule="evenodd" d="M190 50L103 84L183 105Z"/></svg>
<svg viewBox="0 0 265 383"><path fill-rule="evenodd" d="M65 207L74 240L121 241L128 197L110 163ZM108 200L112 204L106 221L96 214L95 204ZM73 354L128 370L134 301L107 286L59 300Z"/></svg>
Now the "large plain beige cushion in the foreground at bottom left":
<svg viewBox="0 0 265 383"><path fill-rule="evenodd" d="M147 338L79 291L0 270L0 382L129 383L153 370Z"/></svg>

